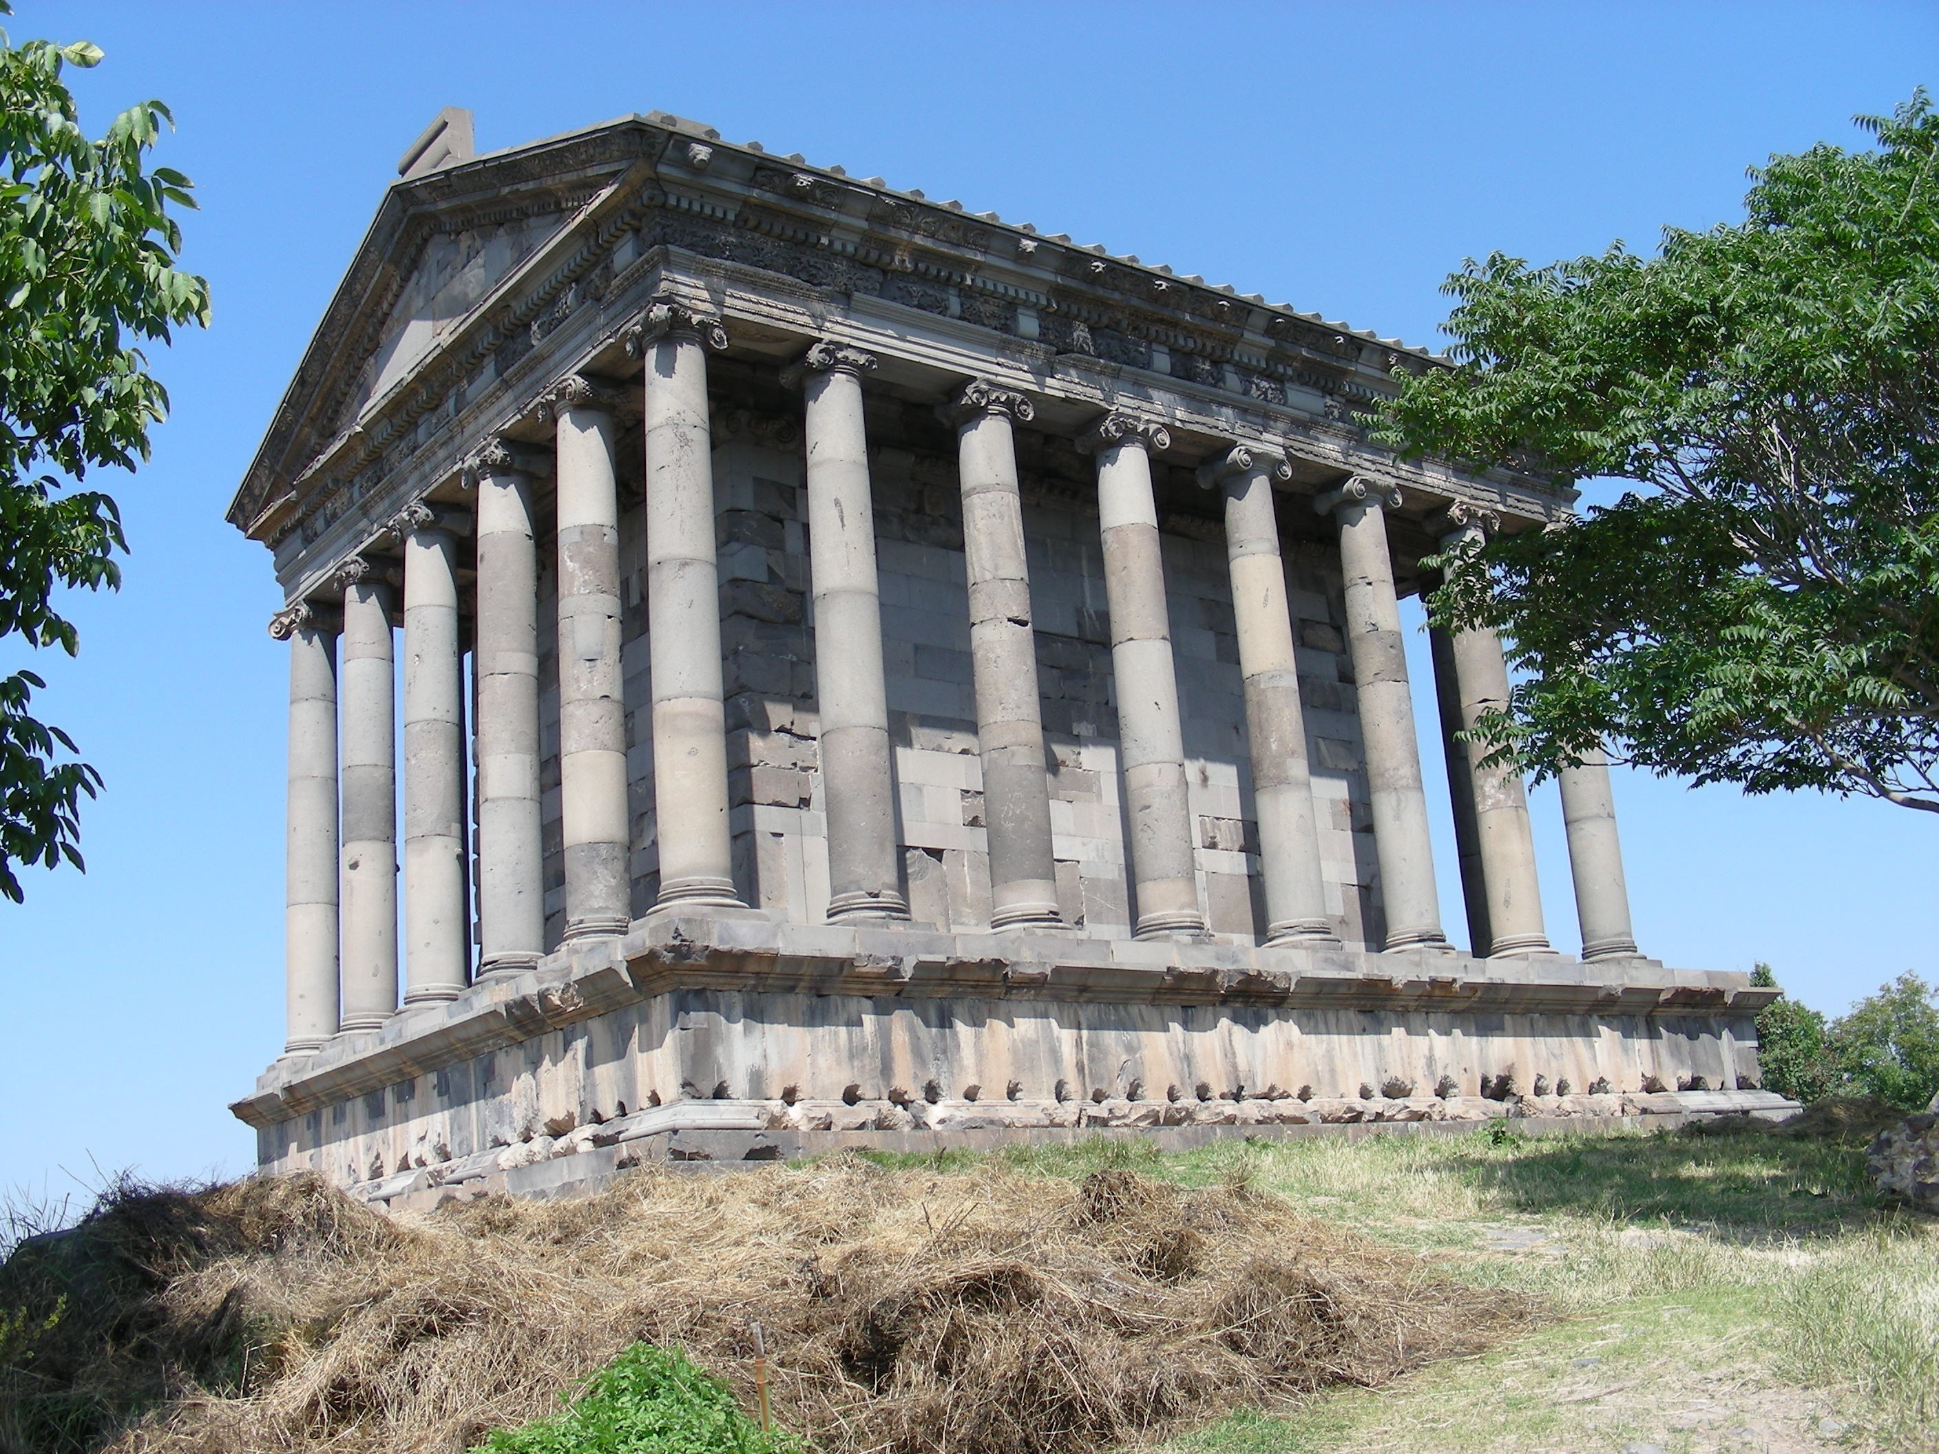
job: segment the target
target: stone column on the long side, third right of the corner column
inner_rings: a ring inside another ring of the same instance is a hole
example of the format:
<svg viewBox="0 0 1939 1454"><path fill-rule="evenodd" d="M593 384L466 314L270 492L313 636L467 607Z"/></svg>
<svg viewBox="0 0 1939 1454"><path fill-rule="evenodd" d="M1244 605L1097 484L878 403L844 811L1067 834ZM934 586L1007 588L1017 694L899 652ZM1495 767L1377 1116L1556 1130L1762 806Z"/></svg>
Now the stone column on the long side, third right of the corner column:
<svg viewBox="0 0 1939 1454"><path fill-rule="evenodd" d="M1198 909L1185 731L1171 665L1158 502L1152 498L1150 450L1169 446L1163 427L1121 411L1107 413L1078 440L1078 450L1097 456L1097 527L1140 936L1198 934L1206 927Z"/></svg>

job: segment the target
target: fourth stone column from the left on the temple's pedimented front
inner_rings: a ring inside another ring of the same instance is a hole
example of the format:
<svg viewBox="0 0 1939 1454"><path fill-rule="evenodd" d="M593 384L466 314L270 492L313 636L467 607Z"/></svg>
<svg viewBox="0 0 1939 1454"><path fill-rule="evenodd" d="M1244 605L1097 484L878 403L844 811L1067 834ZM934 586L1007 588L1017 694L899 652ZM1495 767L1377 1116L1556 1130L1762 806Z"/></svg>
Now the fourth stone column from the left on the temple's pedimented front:
<svg viewBox="0 0 1939 1454"><path fill-rule="evenodd" d="M539 818L539 553L524 452L487 442L477 481L479 971L529 969L545 952Z"/></svg>

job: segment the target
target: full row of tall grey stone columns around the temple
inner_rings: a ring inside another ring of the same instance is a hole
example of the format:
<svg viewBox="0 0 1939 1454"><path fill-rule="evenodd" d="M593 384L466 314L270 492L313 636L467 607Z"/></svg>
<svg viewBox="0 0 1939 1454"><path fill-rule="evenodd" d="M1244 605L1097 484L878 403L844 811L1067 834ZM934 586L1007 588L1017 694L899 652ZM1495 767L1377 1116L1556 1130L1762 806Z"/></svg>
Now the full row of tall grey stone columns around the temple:
<svg viewBox="0 0 1939 1454"><path fill-rule="evenodd" d="M646 611L652 665L659 907L739 907L729 838L727 725L708 423L708 353L721 320L659 297L628 339L646 438ZM826 799L830 921L906 921L861 378L876 359L818 341L791 370L803 392L814 673ZM558 758L564 938L632 921L620 545L619 386L568 376L539 401L553 448L487 440L465 463L473 508L419 502L397 516L396 568L370 553L328 595L271 622L291 644L287 973L289 1053L397 1012L396 630L403 616L403 1004L456 998L471 979L471 865L481 975L545 954L539 770L539 537L535 490L556 494ZM1059 929L1049 785L1014 427L1032 401L975 380L942 409L958 436L991 929ZM1185 735L1152 452L1165 428L1111 409L1078 448L1094 456L1119 704L1127 867L1140 936L1202 934ZM1235 442L1198 471L1224 500L1258 872L1268 944L1336 944L1326 913L1293 618L1280 558L1284 456ZM1355 477L1311 502L1338 529L1365 770L1386 911L1384 948L1446 948L1429 851L1386 514L1398 490ZM1493 522L1456 506L1446 543ZM475 537L475 723L465 723L458 564ZM401 587L401 601L397 589ZM1472 727L1507 698L1491 632L1437 640L1445 721ZM477 766L467 841L465 744ZM1549 942L1522 781L1450 743L1458 841L1476 954ZM1584 958L1635 956L1607 766L1561 775Z"/></svg>

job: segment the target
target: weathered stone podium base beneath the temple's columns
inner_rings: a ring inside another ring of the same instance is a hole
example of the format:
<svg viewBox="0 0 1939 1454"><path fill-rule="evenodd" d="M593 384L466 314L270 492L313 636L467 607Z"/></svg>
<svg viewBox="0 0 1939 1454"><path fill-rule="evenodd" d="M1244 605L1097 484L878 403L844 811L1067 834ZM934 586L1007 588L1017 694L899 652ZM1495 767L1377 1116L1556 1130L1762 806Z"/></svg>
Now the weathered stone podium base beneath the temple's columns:
<svg viewBox="0 0 1939 1454"><path fill-rule="evenodd" d="M1675 1124L1796 1109L1759 1090L1772 995L1650 960L653 915L285 1057L233 1109L264 1171L390 1204L650 1157Z"/></svg>

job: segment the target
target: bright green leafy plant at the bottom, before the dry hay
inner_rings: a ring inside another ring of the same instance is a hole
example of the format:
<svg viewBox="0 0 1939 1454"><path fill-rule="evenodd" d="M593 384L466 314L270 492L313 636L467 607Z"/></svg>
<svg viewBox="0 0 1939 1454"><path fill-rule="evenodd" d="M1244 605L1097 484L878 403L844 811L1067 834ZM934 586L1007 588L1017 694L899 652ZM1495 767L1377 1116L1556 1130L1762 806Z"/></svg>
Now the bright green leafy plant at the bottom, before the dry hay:
<svg viewBox="0 0 1939 1454"><path fill-rule="evenodd" d="M634 1343L555 1419L494 1433L479 1454L791 1454L681 1349Z"/></svg>

